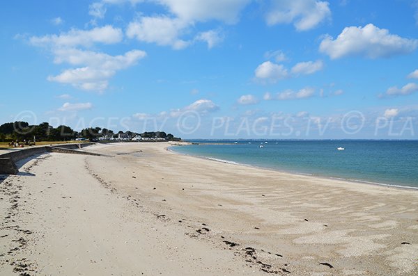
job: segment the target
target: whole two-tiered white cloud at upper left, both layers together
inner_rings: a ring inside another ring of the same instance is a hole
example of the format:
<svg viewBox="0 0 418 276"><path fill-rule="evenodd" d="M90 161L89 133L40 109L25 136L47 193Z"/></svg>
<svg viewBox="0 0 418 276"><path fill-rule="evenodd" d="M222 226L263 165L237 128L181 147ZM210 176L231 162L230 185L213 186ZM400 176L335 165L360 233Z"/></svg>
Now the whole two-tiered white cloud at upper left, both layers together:
<svg viewBox="0 0 418 276"><path fill-rule="evenodd" d="M52 51L54 63L75 66L63 70L56 76L48 76L48 81L70 84L82 90L102 92L108 88L109 79L116 72L137 64L146 53L135 49L123 55L111 56L80 48L93 47L97 43L115 44L122 39L121 29L107 25L90 30L72 29L59 35L32 37L30 42Z"/></svg>

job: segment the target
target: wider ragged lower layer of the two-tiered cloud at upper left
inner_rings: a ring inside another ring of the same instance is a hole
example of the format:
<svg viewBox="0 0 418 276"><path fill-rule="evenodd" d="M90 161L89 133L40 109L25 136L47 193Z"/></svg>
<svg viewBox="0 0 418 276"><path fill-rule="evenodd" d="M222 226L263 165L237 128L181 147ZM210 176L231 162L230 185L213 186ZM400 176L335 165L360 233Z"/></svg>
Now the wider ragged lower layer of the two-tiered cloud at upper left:
<svg viewBox="0 0 418 276"><path fill-rule="evenodd" d="M55 54L55 63L86 66L64 70L57 76L48 76L48 81L67 83L79 89L100 92L108 87L109 79L118 70L135 65L138 60L146 56L144 51L139 50L128 51L123 56L109 56L78 49L60 49Z"/></svg>

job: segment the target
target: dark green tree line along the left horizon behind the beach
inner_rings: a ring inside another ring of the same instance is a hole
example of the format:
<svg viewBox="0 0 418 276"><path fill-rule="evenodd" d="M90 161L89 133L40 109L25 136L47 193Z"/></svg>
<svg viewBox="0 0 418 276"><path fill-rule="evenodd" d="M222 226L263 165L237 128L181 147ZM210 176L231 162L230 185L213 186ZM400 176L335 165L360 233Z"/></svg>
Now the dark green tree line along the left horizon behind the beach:
<svg viewBox="0 0 418 276"><path fill-rule="evenodd" d="M86 140L95 140L100 137L118 138L119 134L127 134L131 138L134 136L141 136L142 138L163 138L166 140L180 140L171 133L164 131L151 131L144 133L136 133L133 131L118 131L114 133L111 129L101 127L88 127L82 131L75 131L71 127L60 125L59 127L52 127L47 122L42 122L38 125L29 125L28 122L6 122L0 125L0 141L10 142L14 140L19 141L66 141L75 140L76 138L85 138Z"/></svg>

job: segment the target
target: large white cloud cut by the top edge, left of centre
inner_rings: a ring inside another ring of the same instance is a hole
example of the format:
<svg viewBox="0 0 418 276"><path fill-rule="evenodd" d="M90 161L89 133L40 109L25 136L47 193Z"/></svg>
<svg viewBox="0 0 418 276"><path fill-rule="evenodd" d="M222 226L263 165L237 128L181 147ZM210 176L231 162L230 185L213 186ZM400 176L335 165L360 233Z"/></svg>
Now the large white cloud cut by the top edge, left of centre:
<svg viewBox="0 0 418 276"><path fill-rule="evenodd" d="M173 49L184 49L196 41L208 43L208 48L215 47L224 39L222 33L215 30L202 31L194 39L184 40L198 22L218 20L233 24L238 22L240 10L251 0L150 0L169 10L169 14L143 16L130 22L127 37L141 42L156 43L160 46L171 46Z"/></svg>

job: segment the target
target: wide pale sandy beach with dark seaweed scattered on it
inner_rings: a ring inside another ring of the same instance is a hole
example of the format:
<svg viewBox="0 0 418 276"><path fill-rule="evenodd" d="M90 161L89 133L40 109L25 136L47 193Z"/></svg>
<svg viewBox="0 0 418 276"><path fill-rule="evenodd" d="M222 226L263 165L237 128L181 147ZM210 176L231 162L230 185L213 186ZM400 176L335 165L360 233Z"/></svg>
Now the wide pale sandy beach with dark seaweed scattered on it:
<svg viewBox="0 0 418 276"><path fill-rule="evenodd" d="M418 275L418 191L184 156L47 153L0 175L0 275Z"/></svg>

